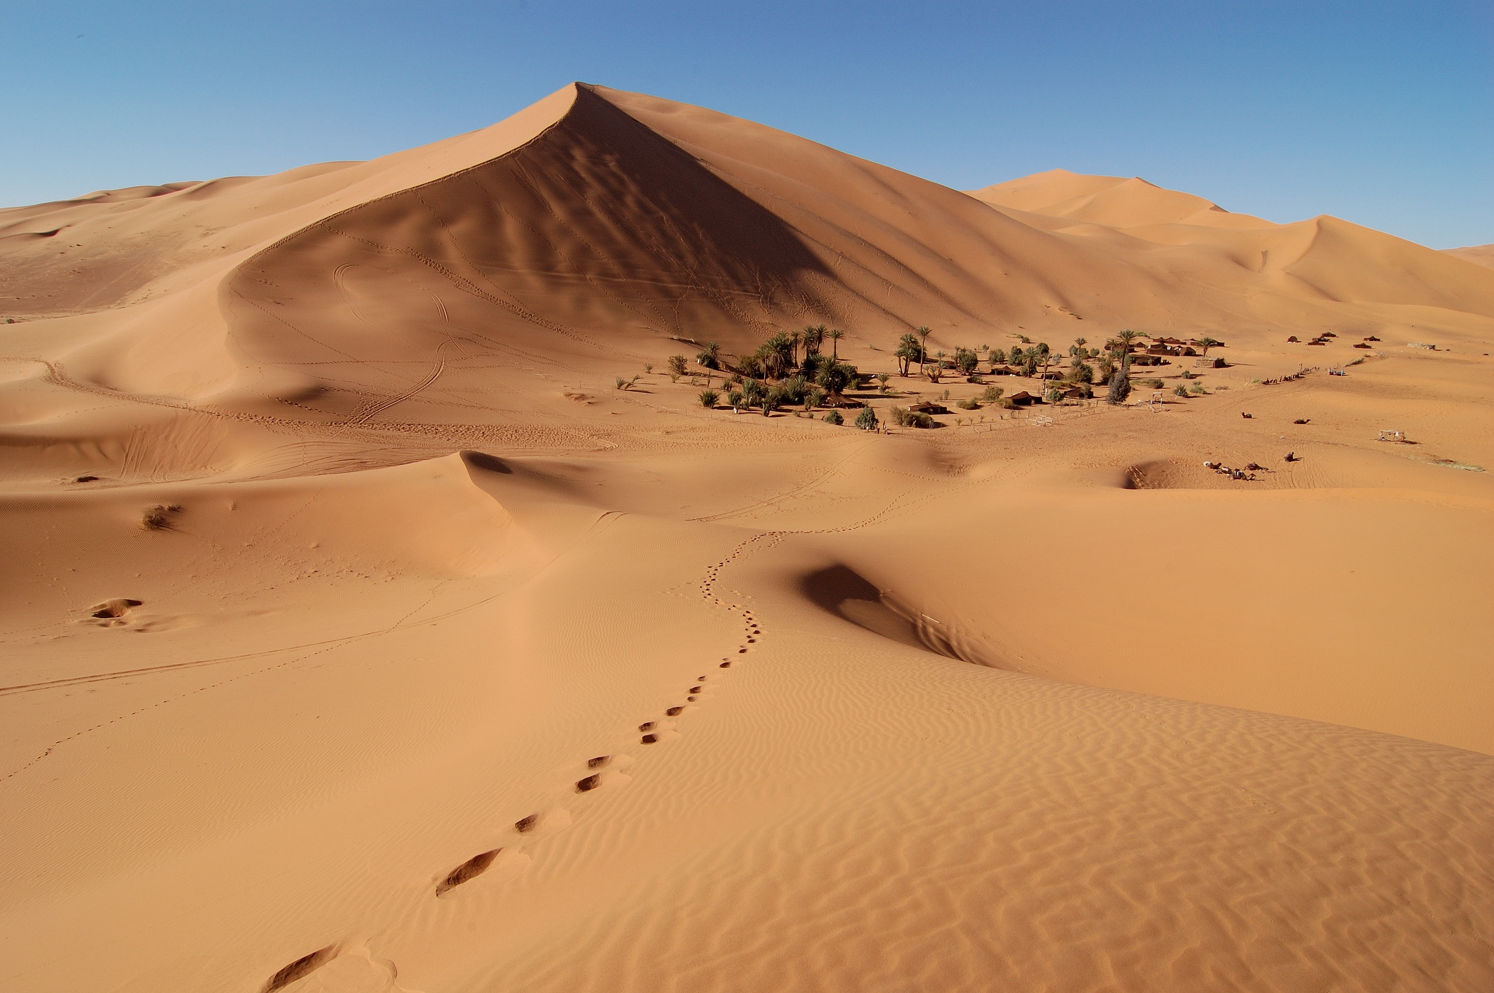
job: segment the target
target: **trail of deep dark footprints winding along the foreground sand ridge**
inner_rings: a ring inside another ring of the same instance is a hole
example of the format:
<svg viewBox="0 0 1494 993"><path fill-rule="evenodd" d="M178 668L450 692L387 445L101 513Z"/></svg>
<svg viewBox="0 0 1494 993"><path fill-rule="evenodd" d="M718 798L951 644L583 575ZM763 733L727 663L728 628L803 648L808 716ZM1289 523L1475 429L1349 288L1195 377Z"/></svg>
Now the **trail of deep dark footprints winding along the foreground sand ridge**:
<svg viewBox="0 0 1494 993"><path fill-rule="evenodd" d="M748 609L743 603L734 603L722 599L720 594L717 594L716 584L720 579L722 570L726 566L732 564L734 561L760 548L771 548L772 545L777 545L780 541L783 541L783 538L784 535L780 532L766 532L762 535L756 535L737 545L737 548L734 548L732 552L726 555L726 558L713 563L711 566L707 567L705 578L699 584L701 597L707 602L707 606L720 608L732 614L738 614L741 615L743 621L743 639L741 642L738 642L737 651L734 654L723 656L722 660L716 663L717 669L731 669L734 663L743 662L741 656L746 656L748 651L751 651L751 647L757 644L759 638L762 638L762 624L757 623L757 618L751 612L751 609ZM722 675L725 673L719 672L716 673L714 678L720 679ZM692 681L690 687L684 691L684 703L677 703L674 706L665 708L662 718L647 720L638 724L638 733L639 733L638 744L657 745L660 742L678 738L680 735L675 730L677 721L674 718L684 714L686 709L689 709L690 703L695 703L710 691L708 690L710 681L711 675L708 672L696 676ZM619 754L619 756L596 756L593 759L587 759L586 768L589 772L587 775L575 781L575 791L590 793L592 790L605 785L610 772L616 772L616 769L624 768L627 765L632 765L632 756ZM568 827L569 824L571 824L569 811L551 809L542 814L530 814L527 817L523 817L514 821L512 829L518 835L533 836L533 835L548 833L550 830L560 830L563 827ZM444 897L447 893L462 885L463 883L471 883L484 872L490 871L495 866L495 863L500 862L500 856L503 854L503 851L505 851L503 847L492 848L489 851L478 853L471 859L468 859L466 862L463 862L462 865L456 866L439 883L436 883L435 896ZM523 862L518 865L514 875L518 875L518 872L523 872L523 866L527 866L527 857L521 859ZM303 956L296 962L291 962L281 971L278 971L273 977L270 977L270 980L261 987L261 990L264 990L264 993L272 993L273 990L278 990L284 986L288 986L290 983L294 983L296 980L300 980L302 977L311 974L321 965L332 962L332 959L335 957L336 957L336 947L333 945L314 951L309 956Z"/></svg>

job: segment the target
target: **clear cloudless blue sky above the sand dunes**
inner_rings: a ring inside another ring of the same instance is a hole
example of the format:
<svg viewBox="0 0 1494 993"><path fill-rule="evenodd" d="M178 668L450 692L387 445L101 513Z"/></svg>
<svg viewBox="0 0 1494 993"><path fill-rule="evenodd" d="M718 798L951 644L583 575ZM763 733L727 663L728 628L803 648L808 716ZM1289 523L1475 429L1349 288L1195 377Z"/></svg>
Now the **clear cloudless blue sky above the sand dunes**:
<svg viewBox="0 0 1494 993"><path fill-rule="evenodd" d="M962 190L1143 176L1494 242L1494 1L0 0L0 203L371 158L572 79Z"/></svg>

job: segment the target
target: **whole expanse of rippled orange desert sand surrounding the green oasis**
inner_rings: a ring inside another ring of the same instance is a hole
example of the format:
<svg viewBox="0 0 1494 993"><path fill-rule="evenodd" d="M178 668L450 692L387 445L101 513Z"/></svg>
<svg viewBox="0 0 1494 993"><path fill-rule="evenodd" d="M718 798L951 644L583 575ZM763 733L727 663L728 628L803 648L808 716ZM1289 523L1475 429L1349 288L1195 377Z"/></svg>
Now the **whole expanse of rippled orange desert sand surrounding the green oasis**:
<svg viewBox="0 0 1494 993"><path fill-rule="evenodd" d="M1494 986L1467 258L577 84L0 211L0 318L3 990ZM943 427L698 402L807 324Z"/></svg>

